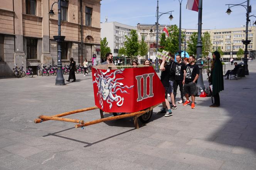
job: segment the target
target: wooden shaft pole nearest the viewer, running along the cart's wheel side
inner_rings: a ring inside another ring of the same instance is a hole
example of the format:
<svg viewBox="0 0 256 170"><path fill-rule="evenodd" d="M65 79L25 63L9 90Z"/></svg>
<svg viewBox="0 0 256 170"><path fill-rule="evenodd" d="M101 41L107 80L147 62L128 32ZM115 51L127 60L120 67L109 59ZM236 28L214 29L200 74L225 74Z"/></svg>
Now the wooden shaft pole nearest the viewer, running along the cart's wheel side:
<svg viewBox="0 0 256 170"><path fill-rule="evenodd" d="M142 110L142 111L139 111L139 112L134 112L134 113L128 113L128 114L124 114L124 115L119 115L119 116L101 118L101 119L93 120L93 121L90 121L90 122L85 122L85 123L82 123L82 124L76 124L75 127L76 128L84 127L84 126L94 125L96 123L107 122L107 121L110 121L110 120L116 120L116 119L120 119L120 118L140 116L140 115L143 115L144 113L146 113L148 111L149 111L149 109Z"/></svg>

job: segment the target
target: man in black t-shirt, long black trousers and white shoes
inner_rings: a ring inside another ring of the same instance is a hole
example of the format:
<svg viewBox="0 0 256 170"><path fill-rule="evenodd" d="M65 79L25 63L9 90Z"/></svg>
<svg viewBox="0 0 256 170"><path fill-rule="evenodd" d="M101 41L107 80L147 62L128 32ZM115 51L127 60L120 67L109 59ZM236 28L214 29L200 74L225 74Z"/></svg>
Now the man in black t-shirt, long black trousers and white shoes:
<svg viewBox="0 0 256 170"><path fill-rule="evenodd" d="M184 97L184 90L183 90L183 79L185 77L186 73L186 65L181 61L181 57L179 55L176 55L176 72L175 72L175 81L174 81L174 88L173 88L173 95L174 99L176 98L177 94L177 88L178 85L180 87L180 101L178 103L183 103L183 97Z"/></svg>

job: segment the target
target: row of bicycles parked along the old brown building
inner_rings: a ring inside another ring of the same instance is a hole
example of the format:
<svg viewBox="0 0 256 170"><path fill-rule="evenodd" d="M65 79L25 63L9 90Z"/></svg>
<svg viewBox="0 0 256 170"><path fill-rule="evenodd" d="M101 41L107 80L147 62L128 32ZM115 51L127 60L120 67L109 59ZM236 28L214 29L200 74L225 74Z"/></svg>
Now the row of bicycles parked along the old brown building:
<svg viewBox="0 0 256 170"><path fill-rule="evenodd" d="M28 76L28 77L33 77L34 73L32 71L32 68L28 68L26 71L24 70L24 67L23 67L24 63L18 68L17 67L17 64L15 64L13 66L13 74L15 77L19 78L19 77L25 77L25 76ZM87 68L86 68L86 72L91 72L91 65L89 65ZM49 64L49 67L47 67L47 65L43 65L43 68L40 67L40 64L37 65L37 75L39 76L49 76L49 75L57 75L57 65L54 65L52 67L51 64ZM64 65L64 67L62 67L62 74L63 75L67 75L69 74L70 72L70 67L69 65ZM84 73L84 67L83 66L80 66L80 65L77 65L77 70L75 71L76 74L78 73Z"/></svg>

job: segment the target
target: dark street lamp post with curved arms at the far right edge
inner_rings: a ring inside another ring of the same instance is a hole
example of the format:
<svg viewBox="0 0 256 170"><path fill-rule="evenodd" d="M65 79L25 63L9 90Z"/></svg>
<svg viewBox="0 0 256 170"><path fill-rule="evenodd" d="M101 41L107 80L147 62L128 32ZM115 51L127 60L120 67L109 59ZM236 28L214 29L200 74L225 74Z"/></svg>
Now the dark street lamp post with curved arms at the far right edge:
<svg viewBox="0 0 256 170"><path fill-rule="evenodd" d="M247 3L247 5L244 5L244 3ZM235 6L242 6L246 9L246 30L245 30L245 40L243 40L243 44L245 45L245 50L244 50L244 75L249 75L249 70L248 70L248 59L247 59L247 55L248 55L248 44L251 42L251 40L248 40L248 23L249 23L249 18L250 17L255 17L254 15L249 15L249 13L251 13L251 5L250 5L250 0L246 0L243 3L239 3L239 4L226 4L229 6L229 8L227 9L226 13L227 15L230 15L230 13L232 12L230 8L235 7Z"/></svg>

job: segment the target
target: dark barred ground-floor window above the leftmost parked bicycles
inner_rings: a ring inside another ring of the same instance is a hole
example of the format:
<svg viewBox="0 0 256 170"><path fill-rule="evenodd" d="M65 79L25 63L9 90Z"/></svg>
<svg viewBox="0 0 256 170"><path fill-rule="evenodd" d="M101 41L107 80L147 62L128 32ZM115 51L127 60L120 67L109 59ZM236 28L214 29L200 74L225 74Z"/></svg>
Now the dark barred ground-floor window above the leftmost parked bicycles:
<svg viewBox="0 0 256 170"><path fill-rule="evenodd" d="M27 59L37 59L37 39L26 38Z"/></svg>

